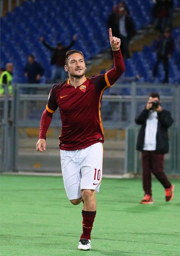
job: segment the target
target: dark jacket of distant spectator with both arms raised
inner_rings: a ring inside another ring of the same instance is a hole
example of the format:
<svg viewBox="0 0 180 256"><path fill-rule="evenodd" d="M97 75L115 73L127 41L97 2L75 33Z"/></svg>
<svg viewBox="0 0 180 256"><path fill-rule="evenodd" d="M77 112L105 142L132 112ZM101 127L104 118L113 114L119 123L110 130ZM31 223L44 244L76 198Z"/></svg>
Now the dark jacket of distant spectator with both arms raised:
<svg viewBox="0 0 180 256"><path fill-rule="evenodd" d="M43 41L43 45L46 46L47 49L53 52L50 64L56 65L58 67L64 67L65 65L65 54L66 52L74 45L75 40L72 40L70 45L64 46L61 51L58 50L57 47L50 46L48 43Z"/></svg>

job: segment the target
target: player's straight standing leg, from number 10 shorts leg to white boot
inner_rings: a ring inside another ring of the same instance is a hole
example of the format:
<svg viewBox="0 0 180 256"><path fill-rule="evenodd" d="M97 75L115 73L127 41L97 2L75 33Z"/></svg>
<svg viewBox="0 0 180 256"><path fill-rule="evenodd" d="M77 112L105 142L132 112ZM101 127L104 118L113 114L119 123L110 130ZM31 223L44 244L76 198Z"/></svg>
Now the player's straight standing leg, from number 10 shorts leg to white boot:
<svg viewBox="0 0 180 256"><path fill-rule="evenodd" d="M91 249L91 231L97 209L95 192L99 192L102 179L103 145L96 143L88 147L84 154L85 159L82 162L80 184L83 198L83 232L78 246L80 250Z"/></svg>

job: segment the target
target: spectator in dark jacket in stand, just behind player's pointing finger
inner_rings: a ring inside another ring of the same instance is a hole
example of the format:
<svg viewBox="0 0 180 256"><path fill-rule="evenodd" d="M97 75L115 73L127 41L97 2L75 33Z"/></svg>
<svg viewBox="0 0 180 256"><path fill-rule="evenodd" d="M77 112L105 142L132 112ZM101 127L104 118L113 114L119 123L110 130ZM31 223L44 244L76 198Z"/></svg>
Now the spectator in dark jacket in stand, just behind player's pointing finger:
<svg viewBox="0 0 180 256"><path fill-rule="evenodd" d="M124 7L119 8L119 38L121 39L121 51L124 58L130 58L129 44L136 35L134 21L127 14Z"/></svg>

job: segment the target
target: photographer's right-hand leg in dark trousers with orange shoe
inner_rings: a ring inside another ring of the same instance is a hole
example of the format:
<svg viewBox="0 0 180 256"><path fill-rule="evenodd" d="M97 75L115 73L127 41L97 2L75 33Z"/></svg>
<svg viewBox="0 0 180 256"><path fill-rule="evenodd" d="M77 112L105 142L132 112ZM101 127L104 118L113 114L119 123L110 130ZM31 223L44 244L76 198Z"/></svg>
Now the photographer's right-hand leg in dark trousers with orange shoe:
<svg viewBox="0 0 180 256"><path fill-rule="evenodd" d="M166 193L165 199L169 202L173 198L174 186L170 183L164 173L164 154L157 154L157 152L153 152L152 158L152 173L163 185Z"/></svg>

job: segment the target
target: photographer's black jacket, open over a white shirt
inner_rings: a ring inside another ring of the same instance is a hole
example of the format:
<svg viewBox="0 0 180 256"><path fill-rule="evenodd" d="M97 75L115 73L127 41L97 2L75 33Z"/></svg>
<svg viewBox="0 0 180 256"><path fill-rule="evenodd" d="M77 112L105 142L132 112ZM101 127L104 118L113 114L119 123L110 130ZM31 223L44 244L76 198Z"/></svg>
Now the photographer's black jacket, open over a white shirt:
<svg viewBox="0 0 180 256"><path fill-rule="evenodd" d="M145 140L145 128L146 120L149 116L149 110L143 110L139 116L136 116L135 122L137 125L141 125L139 134L137 136L136 149L138 151L143 151L144 140ZM166 154L169 151L169 137L167 130L172 125L173 119L170 115L170 112L167 110L162 110L158 112L158 126L156 134L156 152L158 154Z"/></svg>

